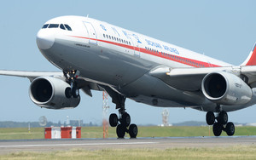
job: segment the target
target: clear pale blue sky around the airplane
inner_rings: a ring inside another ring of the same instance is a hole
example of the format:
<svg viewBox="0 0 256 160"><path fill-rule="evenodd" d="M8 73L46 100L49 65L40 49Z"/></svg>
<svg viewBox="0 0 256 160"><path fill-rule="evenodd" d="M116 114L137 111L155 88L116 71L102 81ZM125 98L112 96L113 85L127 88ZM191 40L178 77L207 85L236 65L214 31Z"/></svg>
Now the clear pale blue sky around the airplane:
<svg viewBox="0 0 256 160"><path fill-rule="evenodd" d="M3 1L0 6L0 69L58 71L40 54L36 35L44 22L61 15L84 15L137 31L185 49L240 65L256 41L256 1ZM102 93L82 94L71 110L47 110L28 96L30 82L20 77L0 77L0 121L37 121L40 116L63 122L83 119L102 122ZM109 100L108 112L117 112ZM163 108L126 100L132 123L161 123ZM205 121L205 112L168 108L169 122ZM256 122L256 106L231 112L230 121Z"/></svg>

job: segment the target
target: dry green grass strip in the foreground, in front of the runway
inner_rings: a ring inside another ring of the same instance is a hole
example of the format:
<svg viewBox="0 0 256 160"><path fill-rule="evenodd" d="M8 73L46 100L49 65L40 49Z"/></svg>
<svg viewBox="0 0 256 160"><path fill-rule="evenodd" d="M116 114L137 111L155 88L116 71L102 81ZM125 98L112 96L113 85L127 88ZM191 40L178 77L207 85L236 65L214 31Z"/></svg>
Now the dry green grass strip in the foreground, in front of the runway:
<svg viewBox="0 0 256 160"><path fill-rule="evenodd" d="M88 151L73 149L70 151L28 152L20 151L1 155L0 159L255 159L256 146L230 146L212 148L169 148L158 149L104 149Z"/></svg>

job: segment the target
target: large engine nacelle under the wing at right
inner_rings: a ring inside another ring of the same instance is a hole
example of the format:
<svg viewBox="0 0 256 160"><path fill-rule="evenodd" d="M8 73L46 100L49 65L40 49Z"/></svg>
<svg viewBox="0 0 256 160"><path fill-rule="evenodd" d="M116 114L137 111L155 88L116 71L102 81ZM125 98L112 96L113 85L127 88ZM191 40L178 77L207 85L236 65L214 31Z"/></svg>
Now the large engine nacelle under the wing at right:
<svg viewBox="0 0 256 160"><path fill-rule="evenodd" d="M252 89L236 75L216 71L207 74L201 83L203 94L219 105L243 105L252 99Z"/></svg>

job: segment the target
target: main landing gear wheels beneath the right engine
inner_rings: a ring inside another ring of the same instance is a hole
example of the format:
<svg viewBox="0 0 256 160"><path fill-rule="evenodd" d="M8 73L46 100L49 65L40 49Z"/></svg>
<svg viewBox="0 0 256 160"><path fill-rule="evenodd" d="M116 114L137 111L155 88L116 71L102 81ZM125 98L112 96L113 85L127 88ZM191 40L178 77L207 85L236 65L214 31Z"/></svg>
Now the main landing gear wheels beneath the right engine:
<svg viewBox="0 0 256 160"><path fill-rule="evenodd" d="M235 134L235 125L231 122L228 123L228 114L226 111L218 111L218 117L215 117L212 111L208 111L207 124L213 124L212 131L215 136L219 136L222 131L226 132L229 136Z"/></svg>

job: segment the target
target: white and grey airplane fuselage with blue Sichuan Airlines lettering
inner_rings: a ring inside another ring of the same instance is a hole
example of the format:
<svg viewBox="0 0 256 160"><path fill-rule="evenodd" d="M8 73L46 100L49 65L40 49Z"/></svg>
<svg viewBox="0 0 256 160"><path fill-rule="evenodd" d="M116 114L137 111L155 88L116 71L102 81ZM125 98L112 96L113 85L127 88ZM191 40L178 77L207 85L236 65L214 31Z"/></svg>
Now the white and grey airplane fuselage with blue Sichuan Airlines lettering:
<svg viewBox="0 0 256 160"><path fill-rule="evenodd" d="M201 90L183 91L148 74L159 66L231 66L203 54L128 31L106 22L79 16L63 16L45 24L68 24L38 31L38 38L49 37L38 48L62 71L79 70L81 77L108 84L126 97L151 106L194 107L207 111L215 104ZM189 84L185 84L189 85ZM245 106L234 106L235 111Z"/></svg>

